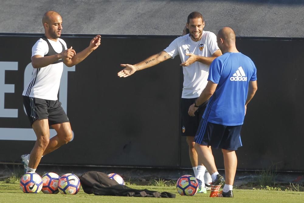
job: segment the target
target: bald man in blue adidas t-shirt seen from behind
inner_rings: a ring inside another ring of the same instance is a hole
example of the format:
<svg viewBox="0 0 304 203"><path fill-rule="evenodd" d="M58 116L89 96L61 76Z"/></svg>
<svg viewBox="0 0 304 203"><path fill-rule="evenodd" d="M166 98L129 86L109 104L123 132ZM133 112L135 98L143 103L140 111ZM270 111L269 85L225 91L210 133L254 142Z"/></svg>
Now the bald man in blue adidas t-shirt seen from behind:
<svg viewBox="0 0 304 203"><path fill-rule="evenodd" d="M240 131L247 104L257 91L257 69L249 57L238 52L231 28L218 32L217 43L223 55L210 65L208 84L188 114L194 116L198 106L209 99L195 135L195 149L199 164L205 165L212 177L210 197L233 197L235 150L242 146ZM225 180L216 169L211 146L221 148L224 157L226 182L220 192Z"/></svg>

